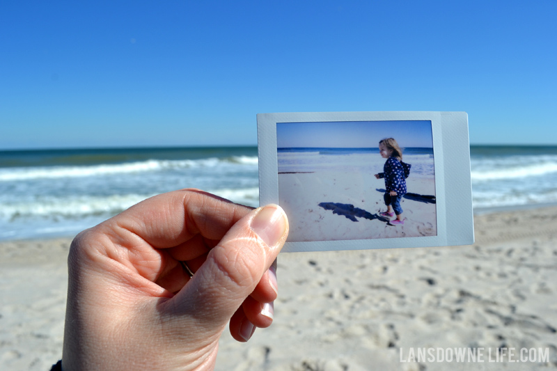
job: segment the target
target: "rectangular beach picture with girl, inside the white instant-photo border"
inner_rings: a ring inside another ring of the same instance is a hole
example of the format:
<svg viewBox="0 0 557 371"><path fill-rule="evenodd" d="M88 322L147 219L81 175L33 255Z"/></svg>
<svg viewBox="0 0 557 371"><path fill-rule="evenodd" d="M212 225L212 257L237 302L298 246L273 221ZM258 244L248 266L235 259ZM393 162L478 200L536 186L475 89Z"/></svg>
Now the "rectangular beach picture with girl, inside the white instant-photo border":
<svg viewBox="0 0 557 371"><path fill-rule="evenodd" d="M288 242L437 235L430 120L276 123Z"/></svg>

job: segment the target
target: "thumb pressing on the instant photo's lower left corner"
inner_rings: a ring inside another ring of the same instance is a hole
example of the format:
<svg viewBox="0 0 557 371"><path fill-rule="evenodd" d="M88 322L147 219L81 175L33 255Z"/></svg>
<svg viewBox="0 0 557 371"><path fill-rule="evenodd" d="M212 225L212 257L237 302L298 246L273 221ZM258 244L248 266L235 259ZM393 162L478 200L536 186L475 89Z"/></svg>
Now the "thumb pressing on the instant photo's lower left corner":
<svg viewBox="0 0 557 371"><path fill-rule="evenodd" d="M212 248L174 299L207 324L226 324L281 251L288 219L278 205L253 210Z"/></svg>

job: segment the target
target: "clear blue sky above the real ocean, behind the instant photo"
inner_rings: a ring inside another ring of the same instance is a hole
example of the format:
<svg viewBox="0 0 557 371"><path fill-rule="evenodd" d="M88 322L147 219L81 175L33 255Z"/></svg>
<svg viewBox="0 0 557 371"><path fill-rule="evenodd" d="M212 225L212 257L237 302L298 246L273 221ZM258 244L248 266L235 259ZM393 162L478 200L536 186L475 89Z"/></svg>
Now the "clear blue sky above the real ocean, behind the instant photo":
<svg viewBox="0 0 557 371"><path fill-rule="evenodd" d="M466 111L557 144L557 1L4 1L0 150L255 145L256 113Z"/></svg>

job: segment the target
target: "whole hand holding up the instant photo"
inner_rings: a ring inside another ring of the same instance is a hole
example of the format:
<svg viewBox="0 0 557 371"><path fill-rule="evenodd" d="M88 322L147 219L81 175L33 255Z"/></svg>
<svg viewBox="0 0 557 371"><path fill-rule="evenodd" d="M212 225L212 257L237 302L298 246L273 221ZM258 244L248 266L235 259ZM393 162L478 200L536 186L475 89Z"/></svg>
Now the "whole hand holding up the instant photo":
<svg viewBox="0 0 557 371"><path fill-rule="evenodd" d="M277 205L251 210L197 190L81 232L68 257L63 370L212 370L229 320L238 341L272 323L269 267L287 235Z"/></svg>

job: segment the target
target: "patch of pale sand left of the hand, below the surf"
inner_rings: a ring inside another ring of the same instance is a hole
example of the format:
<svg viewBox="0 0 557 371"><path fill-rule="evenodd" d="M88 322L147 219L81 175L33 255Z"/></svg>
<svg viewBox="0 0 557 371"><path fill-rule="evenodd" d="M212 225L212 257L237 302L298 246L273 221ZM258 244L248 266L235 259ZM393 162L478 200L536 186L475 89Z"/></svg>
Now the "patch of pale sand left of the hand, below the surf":
<svg viewBox="0 0 557 371"><path fill-rule="evenodd" d="M70 239L0 244L0 370L61 358Z"/></svg>

